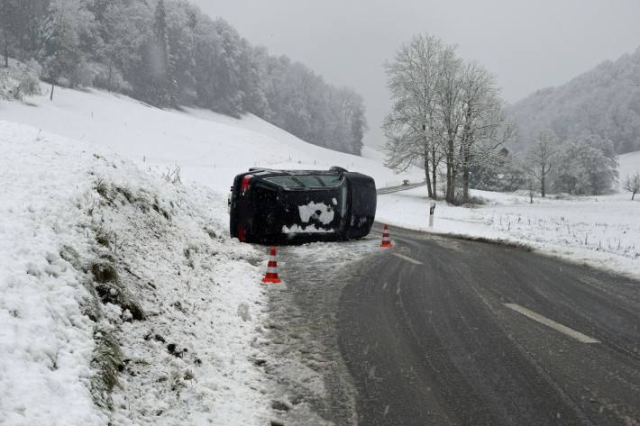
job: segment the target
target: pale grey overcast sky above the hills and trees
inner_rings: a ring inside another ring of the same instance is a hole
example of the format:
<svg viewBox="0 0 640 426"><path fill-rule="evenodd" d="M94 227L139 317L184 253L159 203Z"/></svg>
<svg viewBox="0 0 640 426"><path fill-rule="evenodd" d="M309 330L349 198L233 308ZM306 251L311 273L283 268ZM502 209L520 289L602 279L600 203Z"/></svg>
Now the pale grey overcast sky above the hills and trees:
<svg viewBox="0 0 640 426"><path fill-rule="evenodd" d="M508 102L557 86L640 46L640 0L192 0L253 44L364 96L370 131L389 109L382 64L431 33L498 77Z"/></svg>

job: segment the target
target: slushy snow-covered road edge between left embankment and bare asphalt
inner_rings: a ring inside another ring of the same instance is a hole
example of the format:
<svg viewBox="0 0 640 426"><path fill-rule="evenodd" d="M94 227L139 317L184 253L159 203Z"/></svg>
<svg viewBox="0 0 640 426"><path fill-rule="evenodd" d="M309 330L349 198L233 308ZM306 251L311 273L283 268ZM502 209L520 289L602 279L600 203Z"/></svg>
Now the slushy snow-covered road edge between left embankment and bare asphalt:
<svg viewBox="0 0 640 426"><path fill-rule="evenodd" d="M338 346L336 311L362 259L382 251L379 237L279 248L282 285L268 286L264 369L275 385L281 424L355 424L355 394Z"/></svg>

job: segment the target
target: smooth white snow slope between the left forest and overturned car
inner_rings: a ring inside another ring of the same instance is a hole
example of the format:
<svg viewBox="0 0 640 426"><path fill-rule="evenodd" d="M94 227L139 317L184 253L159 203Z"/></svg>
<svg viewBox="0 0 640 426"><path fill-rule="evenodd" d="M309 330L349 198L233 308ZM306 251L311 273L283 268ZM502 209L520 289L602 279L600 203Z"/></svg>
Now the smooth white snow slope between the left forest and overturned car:
<svg viewBox="0 0 640 426"><path fill-rule="evenodd" d="M379 159L311 145L252 115L236 120L192 108L163 111L95 90L59 89L52 102L46 95L30 99L29 104L0 102L0 117L109 147L136 161L179 166L183 178L220 191L251 167L340 166L371 175L378 186L421 178L419 171L400 177Z"/></svg>

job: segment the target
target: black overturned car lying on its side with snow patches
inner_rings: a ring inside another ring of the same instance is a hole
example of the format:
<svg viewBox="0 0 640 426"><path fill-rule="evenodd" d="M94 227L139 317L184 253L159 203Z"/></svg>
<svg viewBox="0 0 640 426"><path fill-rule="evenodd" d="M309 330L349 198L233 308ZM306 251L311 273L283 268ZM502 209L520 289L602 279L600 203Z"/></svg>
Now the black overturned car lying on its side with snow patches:
<svg viewBox="0 0 640 426"><path fill-rule="evenodd" d="M373 224L376 185L343 168L251 168L233 179L229 214L231 236L246 242L358 239Z"/></svg>

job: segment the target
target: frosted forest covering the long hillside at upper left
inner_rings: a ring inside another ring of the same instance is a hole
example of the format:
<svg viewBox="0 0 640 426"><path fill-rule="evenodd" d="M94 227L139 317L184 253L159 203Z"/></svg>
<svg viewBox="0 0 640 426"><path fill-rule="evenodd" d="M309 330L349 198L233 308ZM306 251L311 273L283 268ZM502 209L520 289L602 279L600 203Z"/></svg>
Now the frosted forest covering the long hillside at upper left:
<svg viewBox="0 0 640 426"><path fill-rule="evenodd" d="M315 145L361 154L361 95L251 45L185 0L0 0L0 53L5 98L39 90L40 77L51 96L55 86L96 87L160 108L253 113Z"/></svg>

